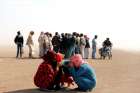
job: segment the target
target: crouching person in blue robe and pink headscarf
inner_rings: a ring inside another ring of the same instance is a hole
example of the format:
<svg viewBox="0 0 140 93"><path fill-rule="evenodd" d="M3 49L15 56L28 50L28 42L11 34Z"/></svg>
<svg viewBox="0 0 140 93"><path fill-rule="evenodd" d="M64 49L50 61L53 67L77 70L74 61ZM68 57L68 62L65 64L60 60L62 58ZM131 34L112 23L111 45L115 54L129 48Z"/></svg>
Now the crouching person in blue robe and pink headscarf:
<svg viewBox="0 0 140 93"><path fill-rule="evenodd" d="M70 62L63 63L69 68L75 83L78 85L79 91L91 91L96 86L96 75L94 69L89 66L82 56L76 54L70 58Z"/></svg>

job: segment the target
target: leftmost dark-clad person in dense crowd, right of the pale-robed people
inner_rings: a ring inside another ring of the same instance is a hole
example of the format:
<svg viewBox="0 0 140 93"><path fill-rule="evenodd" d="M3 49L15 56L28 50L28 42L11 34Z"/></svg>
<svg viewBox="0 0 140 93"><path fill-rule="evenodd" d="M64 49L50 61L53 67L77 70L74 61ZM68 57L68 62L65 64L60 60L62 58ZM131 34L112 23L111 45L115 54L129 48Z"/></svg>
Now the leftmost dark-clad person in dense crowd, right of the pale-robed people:
<svg viewBox="0 0 140 93"><path fill-rule="evenodd" d="M55 36L52 38L52 44L53 44L53 49L56 53L59 52L60 50L60 35L58 34L58 32L55 33Z"/></svg>

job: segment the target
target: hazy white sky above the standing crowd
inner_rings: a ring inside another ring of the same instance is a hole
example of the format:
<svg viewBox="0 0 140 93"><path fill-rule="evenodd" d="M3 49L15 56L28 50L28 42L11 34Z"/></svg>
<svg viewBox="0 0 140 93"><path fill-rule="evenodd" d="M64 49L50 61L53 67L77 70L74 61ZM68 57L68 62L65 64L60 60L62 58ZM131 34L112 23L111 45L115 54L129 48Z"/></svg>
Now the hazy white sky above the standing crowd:
<svg viewBox="0 0 140 93"><path fill-rule="evenodd" d="M99 46L110 37L114 48L140 51L140 1L0 0L0 45L14 45L18 30L36 39L41 31L97 34Z"/></svg>

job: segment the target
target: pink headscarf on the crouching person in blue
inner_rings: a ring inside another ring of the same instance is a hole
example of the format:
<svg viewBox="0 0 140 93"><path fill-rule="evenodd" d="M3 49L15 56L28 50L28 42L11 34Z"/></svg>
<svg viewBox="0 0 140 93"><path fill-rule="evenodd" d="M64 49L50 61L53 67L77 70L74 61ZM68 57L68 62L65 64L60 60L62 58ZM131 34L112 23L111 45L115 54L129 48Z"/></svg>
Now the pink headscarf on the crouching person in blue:
<svg viewBox="0 0 140 93"><path fill-rule="evenodd" d="M74 56L72 56L70 58L70 62L72 62L72 64L74 66L80 67L82 64L86 63L83 59L82 56L80 54L76 54Z"/></svg>

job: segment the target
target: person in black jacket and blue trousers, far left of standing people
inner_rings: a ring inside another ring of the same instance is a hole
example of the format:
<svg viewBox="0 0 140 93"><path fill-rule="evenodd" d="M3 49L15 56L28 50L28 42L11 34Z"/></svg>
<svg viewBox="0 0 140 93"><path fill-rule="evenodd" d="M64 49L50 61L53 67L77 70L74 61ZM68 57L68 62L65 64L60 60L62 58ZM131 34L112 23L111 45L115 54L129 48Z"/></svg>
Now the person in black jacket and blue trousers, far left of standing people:
<svg viewBox="0 0 140 93"><path fill-rule="evenodd" d="M17 45L17 56L16 56L16 58L19 57L19 54L20 54L20 58L22 58L24 39L23 39L23 36L21 35L20 31L17 32L17 36L15 37L14 42Z"/></svg>

